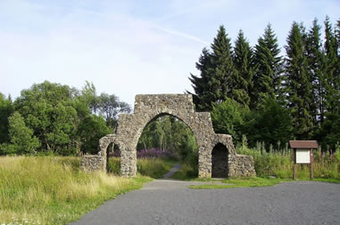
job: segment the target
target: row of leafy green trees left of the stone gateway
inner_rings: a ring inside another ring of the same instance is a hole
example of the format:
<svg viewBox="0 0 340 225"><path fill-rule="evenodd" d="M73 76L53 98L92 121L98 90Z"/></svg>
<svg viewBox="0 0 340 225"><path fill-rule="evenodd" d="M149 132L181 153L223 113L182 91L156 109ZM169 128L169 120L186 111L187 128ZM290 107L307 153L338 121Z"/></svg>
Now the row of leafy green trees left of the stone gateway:
<svg viewBox="0 0 340 225"><path fill-rule="evenodd" d="M97 95L88 82L81 90L48 81L33 84L14 101L0 93L0 155L95 154L99 139L113 133L118 115L130 111L114 94Z"/></svg>

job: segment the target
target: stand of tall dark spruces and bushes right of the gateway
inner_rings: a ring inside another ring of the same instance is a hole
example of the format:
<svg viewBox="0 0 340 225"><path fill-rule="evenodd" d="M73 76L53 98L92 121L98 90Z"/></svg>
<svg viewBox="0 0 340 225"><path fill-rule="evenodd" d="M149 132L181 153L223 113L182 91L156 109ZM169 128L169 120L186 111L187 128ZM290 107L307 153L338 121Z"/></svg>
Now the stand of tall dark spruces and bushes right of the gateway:
<svg viewBox="0 0 340 225"><path fill-rule="evenodd" d="M190 75L198 110L210 111L214 129L236 143L264 141L280 149L287 141L318 140L335 150L340 141L340 20L311 28L293 22L286 55L270 24L255 46L239 31L231 44L220 26Z"/></svg>

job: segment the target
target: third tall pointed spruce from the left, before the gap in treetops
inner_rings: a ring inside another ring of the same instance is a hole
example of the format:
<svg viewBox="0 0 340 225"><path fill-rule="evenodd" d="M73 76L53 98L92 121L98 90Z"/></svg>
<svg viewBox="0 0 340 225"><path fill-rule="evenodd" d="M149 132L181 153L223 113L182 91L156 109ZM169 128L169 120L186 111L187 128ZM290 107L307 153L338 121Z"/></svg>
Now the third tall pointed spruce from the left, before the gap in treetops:
<svg viewBox="0 0 340 225"><path fill-rule="evenodd" d="M265 97L282 97L283 60L279 53L278 38L269 24L255 46L252 108L257 108Z"/></svg>

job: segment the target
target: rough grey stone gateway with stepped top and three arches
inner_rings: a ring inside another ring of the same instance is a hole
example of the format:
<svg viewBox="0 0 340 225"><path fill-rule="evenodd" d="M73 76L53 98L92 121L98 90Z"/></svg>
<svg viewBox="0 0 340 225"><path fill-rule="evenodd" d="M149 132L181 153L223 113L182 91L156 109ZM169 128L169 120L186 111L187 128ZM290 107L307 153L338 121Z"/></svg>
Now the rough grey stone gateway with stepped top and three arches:
<svg viewBox="0 0 340 225"><path fill-rule="evenodd" d="M121 114L116 132L99 141L95 156L84 156L86 171L106 170L106 149L110 143L120 148L120 173L132 177L137 173L137 141L145 125L157 117L170 115L183 121L194 133L198 146L198 176L211 177L211 151L218 144L228 149L228 177L254 176L253 157L237 155L232 137L214 133L209 112L195 112L191 94L139 94L133 114Z"/></svg>

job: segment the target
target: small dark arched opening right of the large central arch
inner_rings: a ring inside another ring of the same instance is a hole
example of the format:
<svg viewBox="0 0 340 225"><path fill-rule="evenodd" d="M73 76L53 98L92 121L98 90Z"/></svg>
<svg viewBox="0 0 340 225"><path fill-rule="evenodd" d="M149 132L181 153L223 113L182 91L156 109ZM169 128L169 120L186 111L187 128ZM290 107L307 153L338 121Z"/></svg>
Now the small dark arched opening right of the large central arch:
<svg viewBox="0 0 340 225"><path fill-rule="evenodd" d="M211 177L228 178L228 149L218 143L211 151Z"/></svg>

